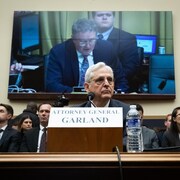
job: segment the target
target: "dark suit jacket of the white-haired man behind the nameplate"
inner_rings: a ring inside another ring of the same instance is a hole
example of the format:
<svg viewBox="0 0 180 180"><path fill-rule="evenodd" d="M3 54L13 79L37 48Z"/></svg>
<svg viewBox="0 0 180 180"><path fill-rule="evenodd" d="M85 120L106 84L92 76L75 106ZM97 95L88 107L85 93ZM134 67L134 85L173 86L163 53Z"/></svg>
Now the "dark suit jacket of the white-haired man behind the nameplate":
<svg viewBox="0 0 180 180"><path fill-rule="evenodd" d="M89 101L84 102L82 104L77 105L76 107L91 107L91 103ZM126 128L126 114L129 111L129 104L126 104L122 101L111 99L109 103L109 107L122 107L123 109L123 135L125 135Z"/></svg>

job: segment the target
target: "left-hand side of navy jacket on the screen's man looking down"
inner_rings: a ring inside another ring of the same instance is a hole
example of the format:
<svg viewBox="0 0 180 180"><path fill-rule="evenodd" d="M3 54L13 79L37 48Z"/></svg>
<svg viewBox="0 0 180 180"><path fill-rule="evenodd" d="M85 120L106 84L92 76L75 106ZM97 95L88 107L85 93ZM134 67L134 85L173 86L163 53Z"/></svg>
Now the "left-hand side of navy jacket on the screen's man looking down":
<svg viewBox="0 0 180 180"><path fill-rule="evenodd" d="M75 85L71 64L67 55L67 43L58 44L49 52L49 60L46 73L46 91L48 92L72 92ZM72 59L71 59L72 60Z"/></svg>

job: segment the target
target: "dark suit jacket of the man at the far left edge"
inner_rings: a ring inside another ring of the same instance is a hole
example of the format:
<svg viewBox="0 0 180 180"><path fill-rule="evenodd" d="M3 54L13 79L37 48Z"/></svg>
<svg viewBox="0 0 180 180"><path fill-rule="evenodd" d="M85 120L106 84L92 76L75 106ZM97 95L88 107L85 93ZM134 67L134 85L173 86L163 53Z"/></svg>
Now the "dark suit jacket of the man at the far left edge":
<svg viewBox="0 0 180 180"><path fill-rule="evenodd" d="M0 152L9 152L13 136L18 133L17 130L7 126L0 140Z"/></svg>

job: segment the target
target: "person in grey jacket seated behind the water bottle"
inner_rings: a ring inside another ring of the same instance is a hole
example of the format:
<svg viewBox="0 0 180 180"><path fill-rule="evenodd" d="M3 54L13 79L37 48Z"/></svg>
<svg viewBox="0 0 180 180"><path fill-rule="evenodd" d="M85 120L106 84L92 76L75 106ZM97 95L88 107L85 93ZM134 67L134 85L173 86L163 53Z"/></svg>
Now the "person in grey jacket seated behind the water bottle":
<svg viewBox="0 0 180 180"><path fill-rule="evenodd" d="M159 140L158 140L156 132L153 129L143 126L143 116L144 116L143 107L140 104L135 104L135 105L136 105L136 109L139 112L140 118L141 118L144 149L159 148ZM126 151L126 138L127 137L124 137L124 139L123 139L124 151Z"/></svg>

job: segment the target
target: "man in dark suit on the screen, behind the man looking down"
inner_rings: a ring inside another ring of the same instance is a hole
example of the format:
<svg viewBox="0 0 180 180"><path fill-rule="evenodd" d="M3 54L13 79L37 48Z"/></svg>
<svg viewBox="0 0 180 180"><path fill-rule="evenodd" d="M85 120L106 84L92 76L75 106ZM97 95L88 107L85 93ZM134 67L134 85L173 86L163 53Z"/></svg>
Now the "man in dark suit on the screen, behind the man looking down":
<svg viewBox="0 0 180 180"><path fill-rule="evenodd" d="M115 12L93 11L92 17L97 24L99 38L112 43L130 86L135 91L133 78L138 73L141 62L138 56L136 37L122 29L114 27Z"/></svg>

